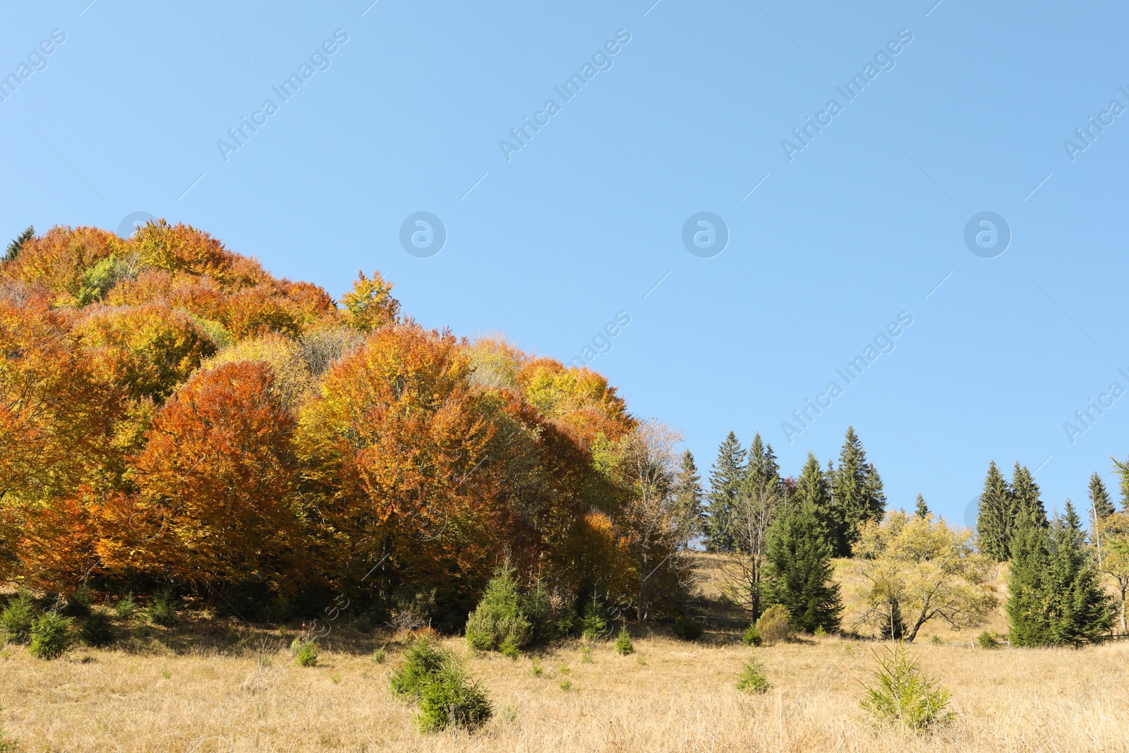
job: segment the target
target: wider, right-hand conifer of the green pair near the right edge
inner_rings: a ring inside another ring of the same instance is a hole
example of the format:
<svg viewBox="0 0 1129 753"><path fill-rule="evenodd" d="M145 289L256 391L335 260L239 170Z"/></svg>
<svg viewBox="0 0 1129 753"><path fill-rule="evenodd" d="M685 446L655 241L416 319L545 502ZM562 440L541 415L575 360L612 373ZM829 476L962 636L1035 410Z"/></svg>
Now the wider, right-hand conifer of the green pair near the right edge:
<svg viewBox="0 0 1129 753"><path fill-rule="evenodd" d="M1113 604L1086 550L1082 520L1068 499L1050 532L1047 571L1049 642L1079 646L1102 640L1113 625Z"/></svg>

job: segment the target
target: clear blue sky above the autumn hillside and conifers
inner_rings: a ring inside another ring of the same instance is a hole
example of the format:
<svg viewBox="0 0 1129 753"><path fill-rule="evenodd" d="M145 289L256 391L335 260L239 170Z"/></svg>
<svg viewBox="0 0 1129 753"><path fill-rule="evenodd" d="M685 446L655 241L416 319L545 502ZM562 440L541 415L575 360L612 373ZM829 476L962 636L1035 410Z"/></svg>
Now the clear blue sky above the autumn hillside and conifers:
<svg viewBox="0 0 1129 753"><path fill-rule="evenodd" d="M653 1L8 3L0 235L149 212L333 295L378 269L427 326L562 360L625 312L590 365L703 474L730 429L796 473L854 424L893 506L963 520L990 459L1041 466L1049 507L1085 499L1129 454L1129 396L1064 428L1129 388L1129 10ZM500 146L526 117L548 123ZM786 149L808 117L830 123ZM1091 117L1112 122L1086 146ZM401 245L417 211L446 228L437 255ZM701 211L728 228L712 257L682 240ZM991 259L964 239L984 211L1012 233Z"/></svg>

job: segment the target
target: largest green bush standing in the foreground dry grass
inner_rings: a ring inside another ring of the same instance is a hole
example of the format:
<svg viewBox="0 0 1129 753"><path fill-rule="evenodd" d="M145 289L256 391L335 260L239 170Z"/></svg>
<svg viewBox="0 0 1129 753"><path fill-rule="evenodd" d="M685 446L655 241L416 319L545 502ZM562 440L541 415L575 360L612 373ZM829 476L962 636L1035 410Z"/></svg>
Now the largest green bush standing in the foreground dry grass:
<svg viewBox="0 0 1129 753"><path fill-rule="evenodd" d="M388 685L393 695L419 701L415 720L422 732L474 729L493 712L481 685L471 682L462 663L430 638L412 642Z"/></svg>

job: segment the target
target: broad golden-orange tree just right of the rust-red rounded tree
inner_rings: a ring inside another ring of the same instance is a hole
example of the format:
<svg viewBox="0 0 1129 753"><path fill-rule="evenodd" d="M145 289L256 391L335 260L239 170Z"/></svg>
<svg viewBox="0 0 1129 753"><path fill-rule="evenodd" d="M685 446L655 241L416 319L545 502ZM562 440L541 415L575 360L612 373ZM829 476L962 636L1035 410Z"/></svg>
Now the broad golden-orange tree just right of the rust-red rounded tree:
<svg viewBox="0 0 1129 753"><path fill-rule="evenodd" d="M452 335L386 326L331 368L306 405L307 499L340 587L367 587L385 557L386 577L447 598L489 571L509 525L489 472L499 406L471 389L467 373Z"/></svg>

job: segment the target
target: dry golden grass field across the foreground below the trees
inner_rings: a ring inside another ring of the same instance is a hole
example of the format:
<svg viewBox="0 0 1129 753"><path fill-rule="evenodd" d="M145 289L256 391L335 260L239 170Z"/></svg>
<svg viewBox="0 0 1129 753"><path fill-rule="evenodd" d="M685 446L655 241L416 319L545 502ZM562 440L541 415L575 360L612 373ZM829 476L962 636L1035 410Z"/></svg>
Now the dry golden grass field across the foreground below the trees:
<svg viewBox="0 0 1129 753"><path fill-rule="evenodd" d="M953 691L956 716L913 735L875 726L859 708L881 650L873 641L749 649L736 631L695 643L637 631L633 655L601 643L586 662L579 642L567 643L536 657L540 675L530 656L469 656L493 719L473 735L425 736L414 709L388 693L402 649L388 636L342 627L318 666L298 667L279 631L134 622L113 649L54 662L23 646L0 651L0 728L12 750L1129 751L1129 641L986 650L919 639L912 650ZM465 654L462 640L446 643ZM371 653L385 645L377 664ZM771 683L761 695L734 689L751 654Z"/></svg>

